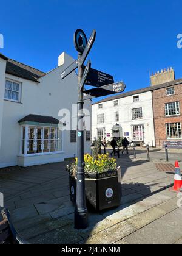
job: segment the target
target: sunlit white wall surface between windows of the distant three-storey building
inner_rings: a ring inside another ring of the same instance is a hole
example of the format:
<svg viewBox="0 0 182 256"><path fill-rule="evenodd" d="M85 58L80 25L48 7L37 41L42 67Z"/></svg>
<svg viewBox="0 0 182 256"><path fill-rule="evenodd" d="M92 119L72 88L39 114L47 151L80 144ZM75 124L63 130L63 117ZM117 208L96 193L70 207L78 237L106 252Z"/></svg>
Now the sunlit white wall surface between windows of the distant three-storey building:
<svg viewBox="0 0 182 256"><path fill-rule="evenodd" d="M138 94L137 94L138 95ZM107 140L112 138L112 128L115 124L121 125L123 128L123 137L125 132L130 133L132 138L132 126L137 124L144 125L144 141L150 146L155 146L155 135L153 125L153 110L152 110L152 93L148 91L146 93L139 94L140 101L133 102L133 96L127 96L125 98L118 99L118 107L114 107L114 101L103 102L103 109L98 109L98 104L92 105L92 139L96 137L97 128L106 127L107 133L111 133L111 137L107 137ZM143 108L143 119L132 120L132 108ZM115 122L115 112L120 114L120 121ZM97 115L104 113L105 123L97 124Z"/></svg>

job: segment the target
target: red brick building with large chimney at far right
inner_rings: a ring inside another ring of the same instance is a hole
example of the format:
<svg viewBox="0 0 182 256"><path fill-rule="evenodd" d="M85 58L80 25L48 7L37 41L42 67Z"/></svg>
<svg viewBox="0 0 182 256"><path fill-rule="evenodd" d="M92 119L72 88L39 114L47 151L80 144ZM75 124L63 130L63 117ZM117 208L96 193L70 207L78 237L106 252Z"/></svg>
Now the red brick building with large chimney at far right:
<svg viewBox="0 0 182 256"><path fill-rule="evenodd" d="M182 79L171 68L152 75L151 84L156 146L182 148Z"/></svg>

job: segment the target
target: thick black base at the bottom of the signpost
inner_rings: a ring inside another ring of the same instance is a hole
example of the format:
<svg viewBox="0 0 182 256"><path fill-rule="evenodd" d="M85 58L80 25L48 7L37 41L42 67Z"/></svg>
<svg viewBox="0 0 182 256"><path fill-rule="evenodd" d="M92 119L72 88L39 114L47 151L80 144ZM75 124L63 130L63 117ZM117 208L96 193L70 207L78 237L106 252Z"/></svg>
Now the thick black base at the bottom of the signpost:
<svg viewBox="0 0 182 256"><path fill-rule="evenodd" d="M75 210L75 229L86 229L88 227L88 211L78 212Z"/></svg>

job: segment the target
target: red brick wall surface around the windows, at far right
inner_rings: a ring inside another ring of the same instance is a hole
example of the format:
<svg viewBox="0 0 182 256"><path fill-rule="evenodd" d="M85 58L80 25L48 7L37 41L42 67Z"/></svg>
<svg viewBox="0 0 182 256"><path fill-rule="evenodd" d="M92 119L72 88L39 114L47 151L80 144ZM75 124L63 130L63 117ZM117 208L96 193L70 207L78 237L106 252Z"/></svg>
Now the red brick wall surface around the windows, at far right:
<svg viewBox="0 0 182 256"><path fill-rule="evenodd" d="M170 87L167 87L170 88ZM163 141L167 140L166 135L166 123L176 123L181 122L182 125L182 84L174 85L175 95L166 95L166 89L162 88L153 91L153 115L155 123L155 140L156 146L163 146ZM180 115L178 116L165 116L164 105L169 102L180 102ZM179 141L179 140L172 140ZM182 138L181 138L182 141Z"/></svg>

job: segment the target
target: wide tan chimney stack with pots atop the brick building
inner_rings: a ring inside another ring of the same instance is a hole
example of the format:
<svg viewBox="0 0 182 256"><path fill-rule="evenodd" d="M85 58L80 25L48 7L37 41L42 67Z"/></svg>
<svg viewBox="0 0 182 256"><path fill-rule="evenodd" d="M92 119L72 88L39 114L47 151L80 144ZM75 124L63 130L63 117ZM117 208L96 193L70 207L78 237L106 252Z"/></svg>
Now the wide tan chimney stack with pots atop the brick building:
<svg viewBox="0 0 182 256"><path fill-rule="evenodd" d="M162 69L161 72L158 71L152 75L150 79L152 86L171 82L175 80L175 71L173 68Z"/></svg>

